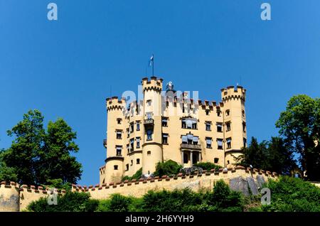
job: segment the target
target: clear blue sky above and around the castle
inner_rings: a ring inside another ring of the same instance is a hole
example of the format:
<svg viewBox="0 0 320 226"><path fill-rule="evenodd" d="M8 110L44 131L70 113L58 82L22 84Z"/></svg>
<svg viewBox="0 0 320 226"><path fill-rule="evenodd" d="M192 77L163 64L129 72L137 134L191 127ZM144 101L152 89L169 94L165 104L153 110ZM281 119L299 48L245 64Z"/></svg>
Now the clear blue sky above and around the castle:
<svg viewBox="0 0 320 226"><path fill-rule="evenodd" d="M320 96L320 1L265 1L0 0L0 148L28 109L63 117L78 133L79 183L98 183L110 85L137 92L152 53L156 75L201 99L220 101L241 77L248 136L270 139L289 97Z"/></svg>

